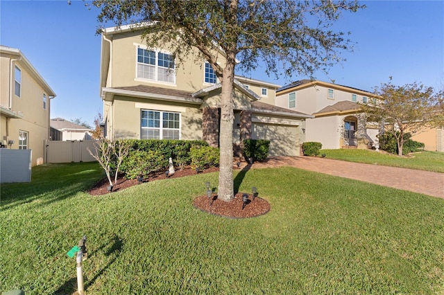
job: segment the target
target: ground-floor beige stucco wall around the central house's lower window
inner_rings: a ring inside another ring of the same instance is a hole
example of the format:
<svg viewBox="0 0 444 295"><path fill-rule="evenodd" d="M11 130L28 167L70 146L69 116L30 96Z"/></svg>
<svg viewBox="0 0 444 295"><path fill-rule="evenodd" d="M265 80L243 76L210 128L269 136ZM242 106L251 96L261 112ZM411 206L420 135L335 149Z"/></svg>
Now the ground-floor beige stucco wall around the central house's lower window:
<svg viewBox="0 0 444 295"><path fill-rule="evenodd" d="M107 118L108 128L114 125L113 138L140 138L142 109L180 112L180 138L202 139L202 112L198 106L125 96L114 96L112 114Z"/></svg>

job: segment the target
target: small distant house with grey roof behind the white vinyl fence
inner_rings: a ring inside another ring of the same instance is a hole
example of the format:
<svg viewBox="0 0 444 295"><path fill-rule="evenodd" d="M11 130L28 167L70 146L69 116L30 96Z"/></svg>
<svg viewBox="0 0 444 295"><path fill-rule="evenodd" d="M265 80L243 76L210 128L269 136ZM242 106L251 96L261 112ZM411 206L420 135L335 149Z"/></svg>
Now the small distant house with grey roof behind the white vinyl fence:
<svg viewBox="0 0 444 295"><path fill-rule="evenodd" d="M92 139L91 129L63 118L51 119L51 141L85 141Z"/></svg>

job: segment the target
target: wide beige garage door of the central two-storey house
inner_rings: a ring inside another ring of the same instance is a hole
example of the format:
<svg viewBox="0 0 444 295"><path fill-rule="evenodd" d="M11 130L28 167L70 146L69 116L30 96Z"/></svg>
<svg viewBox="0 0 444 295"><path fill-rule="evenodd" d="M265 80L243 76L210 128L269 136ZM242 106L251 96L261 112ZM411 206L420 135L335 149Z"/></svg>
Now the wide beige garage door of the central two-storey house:
<svg viewBox="0 0 444 295"><path fill-rule="evenodd" d="M253 139L270 141L270 156L299 156L299 130L297 126L253 123Z"/></svg>

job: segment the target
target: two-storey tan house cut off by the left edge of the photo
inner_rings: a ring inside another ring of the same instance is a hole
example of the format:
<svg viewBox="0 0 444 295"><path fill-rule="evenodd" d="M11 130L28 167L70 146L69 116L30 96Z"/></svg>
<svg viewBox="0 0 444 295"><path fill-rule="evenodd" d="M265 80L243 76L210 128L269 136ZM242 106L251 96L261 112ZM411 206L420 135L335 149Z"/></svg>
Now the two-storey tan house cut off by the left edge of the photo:
<svg viewBox="0 0 444 295"><path fill-rule="evenodd" d="M32 150L31 165L40 165L56 93L19 49L0 46L0 57L1 146Z"/></svg>

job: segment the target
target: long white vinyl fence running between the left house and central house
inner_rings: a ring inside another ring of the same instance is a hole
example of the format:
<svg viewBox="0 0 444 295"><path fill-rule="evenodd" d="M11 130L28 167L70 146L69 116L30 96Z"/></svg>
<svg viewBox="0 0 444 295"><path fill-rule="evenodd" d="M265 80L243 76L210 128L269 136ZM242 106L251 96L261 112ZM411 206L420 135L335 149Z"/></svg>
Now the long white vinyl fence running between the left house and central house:
<svg viewBox="0 0 444 295"><path fill-rule="evenodd" d="M46 163L94 162L87 148L94 152L96 141L45 141Z"/></svg>

